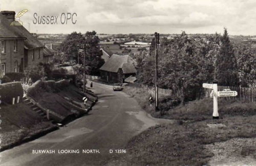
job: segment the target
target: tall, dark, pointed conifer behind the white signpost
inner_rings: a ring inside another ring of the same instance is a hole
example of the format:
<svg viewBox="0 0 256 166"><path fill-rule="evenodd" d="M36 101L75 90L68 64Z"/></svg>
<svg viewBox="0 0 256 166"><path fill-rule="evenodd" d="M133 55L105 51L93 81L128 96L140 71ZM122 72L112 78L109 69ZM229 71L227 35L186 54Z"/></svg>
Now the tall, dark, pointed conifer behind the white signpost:
<svg viewBox="0 0 256 166"><path fill-rule="evenodd" d="M236 86L239 84L237 61L226 28L221 37L219 53L216 55L215 68L215 78L219 85Z"/></svg>

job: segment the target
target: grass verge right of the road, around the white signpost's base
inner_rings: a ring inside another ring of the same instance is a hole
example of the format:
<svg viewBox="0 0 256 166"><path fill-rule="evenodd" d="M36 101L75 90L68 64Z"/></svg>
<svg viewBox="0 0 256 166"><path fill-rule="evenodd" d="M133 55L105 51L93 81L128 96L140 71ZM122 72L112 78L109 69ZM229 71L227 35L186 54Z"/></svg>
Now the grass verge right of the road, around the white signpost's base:
<svg viewBox="0 0 256 166"><path fill-rule="evenodd" d="M148 113L159 116L148 106L145 90L127 87L124 91ZM109 166L221 165L248 158L256 161L256 103L222 99L218 107L218 120L212 119L211 98L169 110L161 118L177 119L178 123L151 127L132 138L126 146L128 153L113 158Z"/></svg>

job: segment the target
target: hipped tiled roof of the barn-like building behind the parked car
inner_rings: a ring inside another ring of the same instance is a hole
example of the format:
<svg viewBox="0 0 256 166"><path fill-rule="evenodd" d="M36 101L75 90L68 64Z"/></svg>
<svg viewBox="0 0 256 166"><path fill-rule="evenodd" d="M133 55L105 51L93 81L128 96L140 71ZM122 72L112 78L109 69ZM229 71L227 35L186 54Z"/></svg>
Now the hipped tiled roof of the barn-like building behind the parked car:
<svg viewBox="0 0 256 166"><path fill-rule="evenodd" d="M119 68L122 68L124 74L136 73L135 61L129 55L113 54L100 70L117 73Z"/></svg>

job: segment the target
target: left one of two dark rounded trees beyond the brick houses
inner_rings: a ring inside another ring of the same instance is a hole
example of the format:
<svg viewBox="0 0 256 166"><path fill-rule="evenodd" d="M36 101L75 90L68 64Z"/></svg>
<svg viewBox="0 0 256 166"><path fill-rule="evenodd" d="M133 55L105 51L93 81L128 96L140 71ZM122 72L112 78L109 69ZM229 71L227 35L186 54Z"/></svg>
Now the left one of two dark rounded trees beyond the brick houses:
<svg viewBox="0 0 256 166"><path fill-rule="evenodd" d="M84 43L85 38L76 31L68 34L64 42L61 43L61 51L64 53L66 61L78 63L78 44Z"/></svg>

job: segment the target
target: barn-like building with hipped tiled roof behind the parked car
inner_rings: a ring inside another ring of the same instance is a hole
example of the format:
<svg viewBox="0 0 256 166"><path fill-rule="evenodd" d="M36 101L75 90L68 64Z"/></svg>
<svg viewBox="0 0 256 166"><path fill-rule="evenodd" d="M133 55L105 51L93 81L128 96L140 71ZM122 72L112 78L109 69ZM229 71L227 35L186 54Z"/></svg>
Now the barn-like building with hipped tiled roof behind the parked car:
<svg viewBox="0 0 256 166"><path fill-rule="evenodd" d="M122 84L129 76L136 75L135 65L131 56L113 54L99 69L100 76L107 82Z"/></svg>

